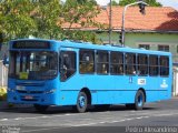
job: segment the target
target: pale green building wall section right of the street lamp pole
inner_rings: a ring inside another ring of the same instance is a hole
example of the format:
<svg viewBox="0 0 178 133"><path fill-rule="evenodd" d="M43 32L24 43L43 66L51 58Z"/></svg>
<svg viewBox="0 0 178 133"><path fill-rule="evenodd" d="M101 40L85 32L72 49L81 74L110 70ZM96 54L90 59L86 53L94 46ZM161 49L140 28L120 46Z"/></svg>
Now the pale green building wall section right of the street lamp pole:
<svg viewBox="0 0 178 133"><path fill-rule="evenodd" d="M150 50L158 50L158 44L169 45L174 62L178 62L178 34L128 33L126 45L138 48L138 44L150 44Z"/></svg>

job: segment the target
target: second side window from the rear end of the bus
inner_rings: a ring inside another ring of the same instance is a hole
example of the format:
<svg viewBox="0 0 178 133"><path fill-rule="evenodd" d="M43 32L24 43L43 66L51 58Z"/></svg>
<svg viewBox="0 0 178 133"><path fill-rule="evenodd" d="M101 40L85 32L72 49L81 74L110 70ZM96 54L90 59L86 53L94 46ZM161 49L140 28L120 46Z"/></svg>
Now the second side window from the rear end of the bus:
<svg viewBox="0 0 178 133"><path fill-rule="evenodd" d="M149 75L157 76L158 74L158 55L149 55Z"/></svg>

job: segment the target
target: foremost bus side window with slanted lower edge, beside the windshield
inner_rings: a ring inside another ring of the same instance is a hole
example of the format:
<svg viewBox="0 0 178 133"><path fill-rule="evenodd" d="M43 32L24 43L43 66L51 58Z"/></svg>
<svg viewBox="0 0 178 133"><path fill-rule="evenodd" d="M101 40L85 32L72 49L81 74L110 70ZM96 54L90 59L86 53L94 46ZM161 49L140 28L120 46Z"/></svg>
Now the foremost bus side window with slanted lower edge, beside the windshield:
<svg viewBox="0 0 178 133"><path fill-rule="evenodd" d="M61 51L60 53L60 80L66 81L76 72L76 52Z"/></svg>

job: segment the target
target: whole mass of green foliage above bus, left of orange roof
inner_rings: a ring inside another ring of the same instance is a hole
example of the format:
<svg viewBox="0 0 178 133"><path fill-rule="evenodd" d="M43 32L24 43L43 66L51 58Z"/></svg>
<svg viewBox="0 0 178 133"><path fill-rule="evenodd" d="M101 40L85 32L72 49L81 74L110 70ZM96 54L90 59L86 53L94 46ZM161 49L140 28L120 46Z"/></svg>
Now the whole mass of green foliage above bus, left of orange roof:
<svg viewBox="0 0 178 133"><path fill-rule="evenodd" d="M2 0L0 1L0 43L33 35L46 39L73 39L97 42L93 32L71 31L73 23L98 27L96 0ZM61 25L69 23L68 30Z"/></svg>

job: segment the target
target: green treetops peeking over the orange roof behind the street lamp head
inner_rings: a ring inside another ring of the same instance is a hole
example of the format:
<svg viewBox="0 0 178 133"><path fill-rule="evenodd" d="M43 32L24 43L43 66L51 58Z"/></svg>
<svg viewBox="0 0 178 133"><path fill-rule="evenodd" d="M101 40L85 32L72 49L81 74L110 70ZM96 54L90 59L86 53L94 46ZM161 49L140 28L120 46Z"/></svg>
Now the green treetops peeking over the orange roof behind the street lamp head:
<svg viewBox="0 0 178 133"><path fill-rule="evenodd" d="M129 3L134 3L138 0L120 0L119 6L127 6ZM147 2L150 7L161 7L161 3L157 2L156 0L144 0Z"/></svg>

